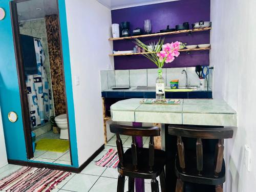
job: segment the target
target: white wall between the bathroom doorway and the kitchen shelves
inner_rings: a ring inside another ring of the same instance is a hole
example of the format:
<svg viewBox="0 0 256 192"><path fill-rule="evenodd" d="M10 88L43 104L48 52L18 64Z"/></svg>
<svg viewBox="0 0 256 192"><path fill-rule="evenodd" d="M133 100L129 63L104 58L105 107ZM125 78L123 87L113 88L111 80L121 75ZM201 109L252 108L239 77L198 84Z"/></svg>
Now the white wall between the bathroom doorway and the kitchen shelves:
<svg viewBox="0 0 256 192"><path fill-rule="evenodd" d="M111 11L96 0L66 0L66 10L80 166L104 144L100 70L114 63Z"/></svg>

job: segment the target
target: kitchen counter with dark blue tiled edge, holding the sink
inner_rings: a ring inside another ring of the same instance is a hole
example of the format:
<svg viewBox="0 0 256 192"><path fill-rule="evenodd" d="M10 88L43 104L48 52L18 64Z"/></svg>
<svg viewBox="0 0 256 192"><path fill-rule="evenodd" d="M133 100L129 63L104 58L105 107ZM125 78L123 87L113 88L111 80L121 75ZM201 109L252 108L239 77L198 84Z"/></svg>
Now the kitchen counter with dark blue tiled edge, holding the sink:
<svg viewBox="0 0 256 192"><path fill-rule="evenodd" d="M169 87L166 87L169 89ZM123 90L103 90L101 96L104 98L155 98L155 87L131 87L130 89ZM212 91L209 88L204 90L193 90L191 92L165 92L166 98L182 98L182 99L194 99L194 98L212 98Z"/></svg>

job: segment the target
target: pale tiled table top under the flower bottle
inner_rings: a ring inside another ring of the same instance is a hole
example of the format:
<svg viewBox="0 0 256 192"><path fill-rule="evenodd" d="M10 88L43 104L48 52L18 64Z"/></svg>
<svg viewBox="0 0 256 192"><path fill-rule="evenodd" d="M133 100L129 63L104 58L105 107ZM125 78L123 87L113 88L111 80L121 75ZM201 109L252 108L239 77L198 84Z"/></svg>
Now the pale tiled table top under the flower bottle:
<svg viewBox="0 0 256 192"><path fill-rule="evenodd" d="M114 121L237 126L237 113L224 100L181 99L179 105L140 104L126 99L111 105Z"/></svg>

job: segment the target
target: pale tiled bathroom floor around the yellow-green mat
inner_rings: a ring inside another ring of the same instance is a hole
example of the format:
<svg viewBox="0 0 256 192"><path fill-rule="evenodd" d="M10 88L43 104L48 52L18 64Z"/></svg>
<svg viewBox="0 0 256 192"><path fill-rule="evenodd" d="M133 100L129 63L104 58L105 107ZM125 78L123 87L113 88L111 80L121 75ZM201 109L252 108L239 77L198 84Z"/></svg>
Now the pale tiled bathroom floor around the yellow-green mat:
<svg viewBox="0 0 256 192"><path fill-rule="evenodd" d="M36 141L39 141L40 139L43 139L43 138L44 139L59 139L59 134L54 134L52 131L49 131L45 134L42 134L42 135L36 137ZM34 153L34 158L31 160L71 165L69 150L64 153L36 150Z"/></svg>

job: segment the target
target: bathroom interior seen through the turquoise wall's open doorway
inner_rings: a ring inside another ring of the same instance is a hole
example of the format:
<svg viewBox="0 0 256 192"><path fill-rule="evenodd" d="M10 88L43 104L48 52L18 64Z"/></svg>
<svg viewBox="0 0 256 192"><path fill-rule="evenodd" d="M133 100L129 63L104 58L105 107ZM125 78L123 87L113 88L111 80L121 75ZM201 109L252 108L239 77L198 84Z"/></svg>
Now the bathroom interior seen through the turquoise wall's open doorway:
<svg viewBox="0 0 256 192"><path fill-rule="evenodd" d="M17 15L32 160L71 165L57 1L19 1Z"/></svg>

